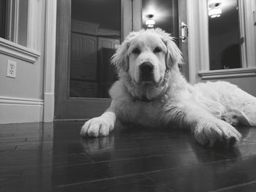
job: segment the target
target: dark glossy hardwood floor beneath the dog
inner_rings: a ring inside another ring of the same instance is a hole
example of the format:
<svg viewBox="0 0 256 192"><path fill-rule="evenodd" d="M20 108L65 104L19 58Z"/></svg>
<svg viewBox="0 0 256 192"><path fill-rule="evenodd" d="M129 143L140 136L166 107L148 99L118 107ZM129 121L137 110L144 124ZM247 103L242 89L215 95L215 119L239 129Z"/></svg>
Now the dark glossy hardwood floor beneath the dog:
<svg viewBox="0 0 256 192"><path fill-rule="evenodd" d="M256 191L256 128L236 146L188 131L118 128L85 139L81 122L0 125L0 191Z"/></svg>

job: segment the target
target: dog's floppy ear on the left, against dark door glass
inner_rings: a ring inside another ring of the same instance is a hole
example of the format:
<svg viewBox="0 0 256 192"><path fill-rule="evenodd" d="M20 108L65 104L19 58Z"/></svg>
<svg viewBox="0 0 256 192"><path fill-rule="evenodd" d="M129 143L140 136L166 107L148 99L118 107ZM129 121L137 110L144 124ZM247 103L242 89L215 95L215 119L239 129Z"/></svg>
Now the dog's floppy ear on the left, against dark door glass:
<svg viewBox="0 0 256 192"><path fill-rule="evenodd" d="M136 32L131 32L125 39L124 42L119 45L116 50L116 53L111 58L111 63L116 66L117 71L120 70L128 71L129 69L129 59L127 51L130 45L130 42L133 37L135 37Z"/></svg>

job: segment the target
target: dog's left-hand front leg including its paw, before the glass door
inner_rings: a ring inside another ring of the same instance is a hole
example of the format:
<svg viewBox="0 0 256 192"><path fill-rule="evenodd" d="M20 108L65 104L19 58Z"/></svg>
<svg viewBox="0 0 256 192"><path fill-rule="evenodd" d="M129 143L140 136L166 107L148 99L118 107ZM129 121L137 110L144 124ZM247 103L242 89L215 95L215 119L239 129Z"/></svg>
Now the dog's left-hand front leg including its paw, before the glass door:
<svg viewBox="0 0 256 192"><path fill-rule="evenodd" d="M107 136L113 130L116 122L115 104L111 102L110 107L101 116L92 118L84 123L80 134L88 137Z"/></svg>

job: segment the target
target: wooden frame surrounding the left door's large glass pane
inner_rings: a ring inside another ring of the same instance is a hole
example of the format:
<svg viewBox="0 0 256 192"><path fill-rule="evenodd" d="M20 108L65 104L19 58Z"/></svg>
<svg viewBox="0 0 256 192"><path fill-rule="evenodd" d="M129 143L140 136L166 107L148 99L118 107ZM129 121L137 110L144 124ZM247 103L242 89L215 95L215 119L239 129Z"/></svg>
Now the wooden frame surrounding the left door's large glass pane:
<svg viewBox="0 0 256 192"><path fill-rule="evenodd" d="M71 2L57 1L55 120L86 120L99 116L110 105L110 99L69 97ZM121 38L132 31L132 1L121 0Z"/></svg>

